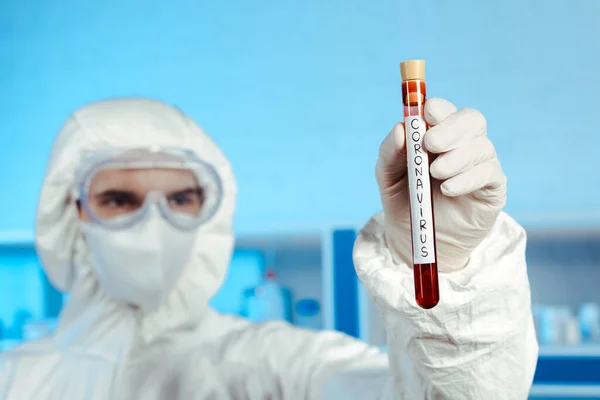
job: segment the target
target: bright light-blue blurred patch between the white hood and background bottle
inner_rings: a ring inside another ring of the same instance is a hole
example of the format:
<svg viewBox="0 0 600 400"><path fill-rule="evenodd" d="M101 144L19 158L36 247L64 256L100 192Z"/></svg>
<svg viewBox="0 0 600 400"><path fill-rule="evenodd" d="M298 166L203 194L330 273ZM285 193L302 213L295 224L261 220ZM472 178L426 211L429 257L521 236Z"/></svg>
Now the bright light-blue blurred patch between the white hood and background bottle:
<svg viewBox="0 0 600 400"><path fill-rule="evenodd" d="M210 301L217 311L239 315L243 292L263 281L265 258L258 250L235 250L225 282Z"/></svg>

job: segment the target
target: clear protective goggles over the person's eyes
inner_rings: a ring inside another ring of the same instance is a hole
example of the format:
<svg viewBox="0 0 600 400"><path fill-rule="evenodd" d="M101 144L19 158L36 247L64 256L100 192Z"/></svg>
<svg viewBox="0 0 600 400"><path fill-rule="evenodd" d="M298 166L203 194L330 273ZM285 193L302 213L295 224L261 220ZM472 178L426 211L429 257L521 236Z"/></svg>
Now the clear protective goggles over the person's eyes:
<svg viewBox="0 0 600 400"><path fill-rule="evenodd" d="M108 229L142 220L152 206L173 226L191 230L214 216L222 200L215 169L183 149L104 150L84 154L74 196Z"/></svg>

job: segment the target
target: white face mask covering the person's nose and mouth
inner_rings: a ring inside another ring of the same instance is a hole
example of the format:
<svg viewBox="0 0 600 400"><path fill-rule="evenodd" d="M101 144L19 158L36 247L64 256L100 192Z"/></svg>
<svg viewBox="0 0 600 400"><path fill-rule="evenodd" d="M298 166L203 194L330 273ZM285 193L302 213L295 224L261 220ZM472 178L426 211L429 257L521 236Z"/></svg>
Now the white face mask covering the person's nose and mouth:
<svg viewBox="0 0 600 400"><path fill-rule="evenodd" d="M111 296L156 310L190 259L197 230L173 227L153 205L145 218L122 230L81 222L92 268Z"/></svg>

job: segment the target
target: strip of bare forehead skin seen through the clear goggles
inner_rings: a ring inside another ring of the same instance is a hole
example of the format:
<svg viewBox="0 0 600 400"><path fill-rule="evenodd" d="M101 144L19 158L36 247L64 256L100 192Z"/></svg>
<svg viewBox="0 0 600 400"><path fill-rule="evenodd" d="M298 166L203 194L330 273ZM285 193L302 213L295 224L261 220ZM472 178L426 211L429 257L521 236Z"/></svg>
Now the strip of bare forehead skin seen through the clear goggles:
<svg viewBox="0 0 600 400"><path fill-rule="evenodd" d="M196 175L187 169L103 169L90 182L90 192L128 190L168 192L198 186Z"/></svg>

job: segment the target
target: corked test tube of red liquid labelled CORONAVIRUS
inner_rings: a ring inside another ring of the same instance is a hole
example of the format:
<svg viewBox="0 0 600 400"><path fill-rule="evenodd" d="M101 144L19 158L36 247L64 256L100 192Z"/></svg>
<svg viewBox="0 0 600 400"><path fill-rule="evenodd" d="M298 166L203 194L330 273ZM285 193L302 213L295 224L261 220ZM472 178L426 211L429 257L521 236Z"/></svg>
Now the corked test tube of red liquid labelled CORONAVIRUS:
<svg viewBox="0 0 600 400"><path fill-rule="evenodd" d="M421 308L430 309L440 301L440 290L429 154L423 147L423 136L427 131L424 118L427 95L425 61L408 60L400 63L400 74L408 163L415 299Z"/></svg>

